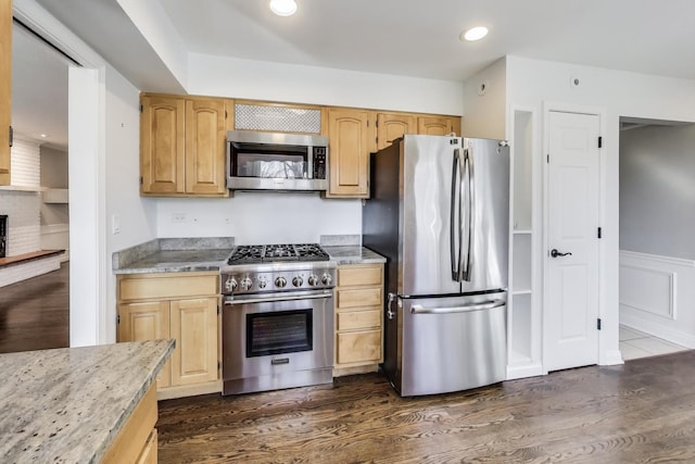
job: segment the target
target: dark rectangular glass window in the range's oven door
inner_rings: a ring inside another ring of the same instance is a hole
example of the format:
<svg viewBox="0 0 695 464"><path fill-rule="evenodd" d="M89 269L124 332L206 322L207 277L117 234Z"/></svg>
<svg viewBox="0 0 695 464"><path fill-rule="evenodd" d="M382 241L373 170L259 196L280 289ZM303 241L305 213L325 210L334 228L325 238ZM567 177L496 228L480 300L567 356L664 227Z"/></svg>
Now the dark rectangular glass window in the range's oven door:
<svg viewBox="0 0 695 464"><path fill-rule="evenodd" d="M247 314L247 358L311 351L312 311Z"/></svg>

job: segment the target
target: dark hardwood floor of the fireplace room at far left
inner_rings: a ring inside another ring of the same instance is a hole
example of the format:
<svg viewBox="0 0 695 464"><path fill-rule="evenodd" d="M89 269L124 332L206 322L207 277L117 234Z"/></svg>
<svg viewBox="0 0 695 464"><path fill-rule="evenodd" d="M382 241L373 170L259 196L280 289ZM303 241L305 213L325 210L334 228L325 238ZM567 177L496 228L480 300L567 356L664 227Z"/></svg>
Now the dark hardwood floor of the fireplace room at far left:
<svg viewBox="0 0 695 464"><path fill-rule="evenodd" d="M0 353L70 346L70 264L0 288Z"/></svg>

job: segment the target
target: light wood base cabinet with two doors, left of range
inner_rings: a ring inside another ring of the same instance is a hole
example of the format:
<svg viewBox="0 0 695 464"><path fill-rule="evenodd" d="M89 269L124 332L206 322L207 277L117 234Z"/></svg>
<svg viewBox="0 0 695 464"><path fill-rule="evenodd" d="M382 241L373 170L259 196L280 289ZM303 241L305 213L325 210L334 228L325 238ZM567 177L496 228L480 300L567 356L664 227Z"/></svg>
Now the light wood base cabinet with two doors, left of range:
<svg viewBox="0 0 695 464"><path fill-rule="evenodd" d="M160 399L220 391L219 274L118 276L117 341L173 338L157 377Z"/></svg>

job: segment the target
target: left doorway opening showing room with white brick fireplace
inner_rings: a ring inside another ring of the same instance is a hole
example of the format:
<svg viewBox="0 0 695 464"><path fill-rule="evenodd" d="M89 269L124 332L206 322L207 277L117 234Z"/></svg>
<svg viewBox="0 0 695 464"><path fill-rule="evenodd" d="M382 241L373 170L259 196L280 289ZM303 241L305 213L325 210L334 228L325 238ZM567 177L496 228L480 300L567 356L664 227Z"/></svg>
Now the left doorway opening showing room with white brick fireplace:
<svg viewBox="0 0 695 464"><path fill-rule="evenodd" d="M12 263L0 269L0 352L70 346L70 65L14 21L11 184L0 190Z"/></svg>

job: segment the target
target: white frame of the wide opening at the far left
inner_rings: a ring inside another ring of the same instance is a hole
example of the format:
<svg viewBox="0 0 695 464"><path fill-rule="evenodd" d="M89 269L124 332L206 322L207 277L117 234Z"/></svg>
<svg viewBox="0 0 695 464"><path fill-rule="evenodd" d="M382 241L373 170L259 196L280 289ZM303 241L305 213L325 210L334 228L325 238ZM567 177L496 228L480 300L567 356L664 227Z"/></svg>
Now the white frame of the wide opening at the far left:
<svg viewBox="0 0 695 464"><path fill-rule="evenodd" d="M70 346L102 344L109 341L106 277L111 267L105 221L108 64L36 1L13 0L13 14L84 66L68 74L73 90L68 93L71 203L75 200L70 214ZM80 84L86 88L80 89Z"/></svg>

